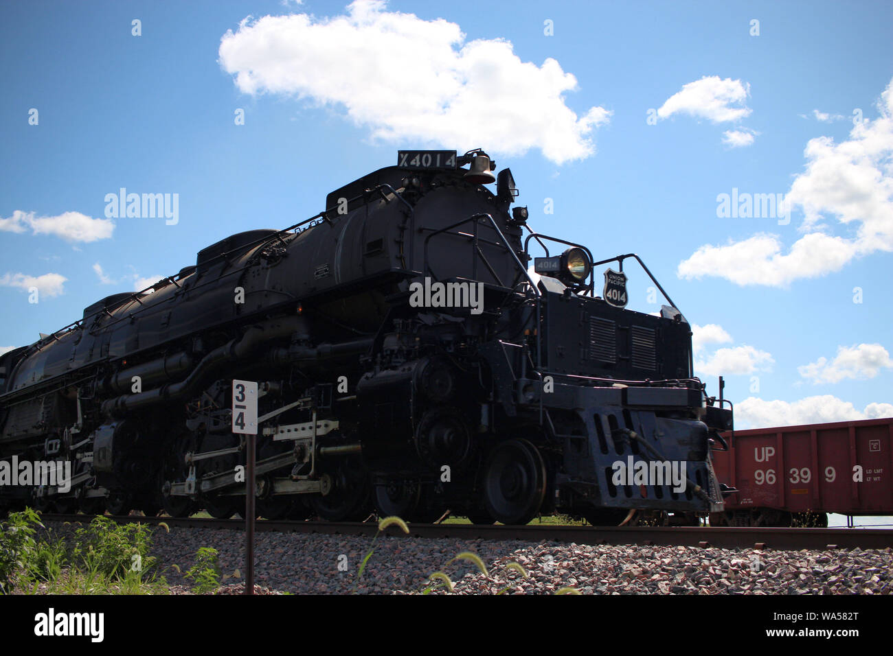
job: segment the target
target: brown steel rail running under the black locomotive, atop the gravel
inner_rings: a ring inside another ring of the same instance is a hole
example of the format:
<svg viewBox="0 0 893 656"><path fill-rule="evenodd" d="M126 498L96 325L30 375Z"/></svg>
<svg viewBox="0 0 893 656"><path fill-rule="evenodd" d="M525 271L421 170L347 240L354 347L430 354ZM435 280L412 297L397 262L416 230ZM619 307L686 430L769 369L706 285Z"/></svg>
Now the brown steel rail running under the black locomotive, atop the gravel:
<svg viewBox="0 0 893 656"><path fill-rule="evenodd" d="M46 521L87 523L88 515L44 514ZM165 523L168 527L226 528L245 527L244 519L111 517L119 523ZM889 528L742 528L742 527L574 527L574 526L484 526L480 524L410 524L407 537L458 538L484 540L524 540L577 544L655 544L668 546L797 549L885 549L893 547L893 529ZM346 536L374 536L378 523L329 521L273 521L258 519L256 531L282 533L320 533ZM388 527L389 536L405 536L398 527Z"/></svg>

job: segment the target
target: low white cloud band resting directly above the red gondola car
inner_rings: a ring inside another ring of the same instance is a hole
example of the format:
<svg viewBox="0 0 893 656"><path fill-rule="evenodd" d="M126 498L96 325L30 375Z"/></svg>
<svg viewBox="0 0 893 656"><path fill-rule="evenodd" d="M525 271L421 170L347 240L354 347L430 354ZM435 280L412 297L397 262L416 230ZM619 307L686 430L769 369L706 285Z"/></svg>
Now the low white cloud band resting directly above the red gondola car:
<svg viewBox="0 0 893 656"><path fill-rule="evenodd" d="M855 419L879 419L893 417L893 404L869 403L859 411L853 403L841 401L831 394L807 396L793 403L764 401L750 396L735 406L736 428L769 428L775 426L799 426L831 421Z"/></svg>

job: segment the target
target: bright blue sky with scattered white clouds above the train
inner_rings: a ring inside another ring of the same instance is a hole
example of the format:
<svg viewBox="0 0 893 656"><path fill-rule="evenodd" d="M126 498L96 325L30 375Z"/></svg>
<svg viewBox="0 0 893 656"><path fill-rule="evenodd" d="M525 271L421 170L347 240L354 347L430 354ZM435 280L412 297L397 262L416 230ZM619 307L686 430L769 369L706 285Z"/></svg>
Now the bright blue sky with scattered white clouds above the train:
<svg viewBox="0 0 893 656"><path fill-rule="evenodd" d="M893 415L893 5L29 2L3 17L0 348L221 237L320 212L397 149L481 147L511 166L533 228L642 256L741 428ZM176 194L176 222L108 217L121 187ZM733 189L781 195L788 220L718 216ZM628 274L630 309L657 311Z"/></svg>

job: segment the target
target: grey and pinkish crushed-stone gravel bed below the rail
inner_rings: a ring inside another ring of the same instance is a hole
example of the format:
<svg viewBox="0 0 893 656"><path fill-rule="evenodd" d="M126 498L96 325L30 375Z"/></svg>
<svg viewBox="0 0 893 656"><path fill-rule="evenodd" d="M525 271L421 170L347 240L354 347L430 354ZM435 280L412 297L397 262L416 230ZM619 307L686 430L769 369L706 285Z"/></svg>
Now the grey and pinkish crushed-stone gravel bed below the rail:
<svg viewBox="0 0 893 656"><path fill-rule="evenodd" d="M47 523L56 535L71 526ZM371 537L263 532L255 536L255 585L265 594L417 594L442 571L454 594L889 594L893 550L758 551L682 546L618 546L517 540L458 540L379 536L363 577L356 573ZM188 593L182 574L199 547L220 554L225 575L244 575L245 536L213 528L154 529L151 554L174 594ZM480 556L485 577L471 561L449 563L460 552ZM517 562L528 577L507 568ZM180 572L171 565L179 566ZM238 594L240 577L224 582ZM432 594L446 594L438 585Z"/></svg>

